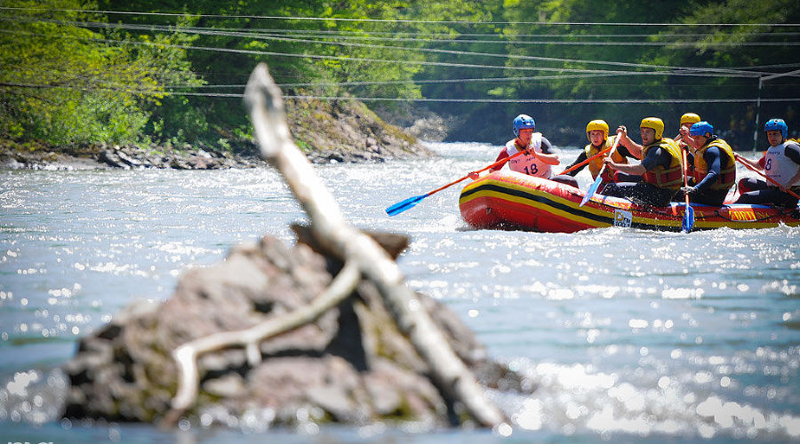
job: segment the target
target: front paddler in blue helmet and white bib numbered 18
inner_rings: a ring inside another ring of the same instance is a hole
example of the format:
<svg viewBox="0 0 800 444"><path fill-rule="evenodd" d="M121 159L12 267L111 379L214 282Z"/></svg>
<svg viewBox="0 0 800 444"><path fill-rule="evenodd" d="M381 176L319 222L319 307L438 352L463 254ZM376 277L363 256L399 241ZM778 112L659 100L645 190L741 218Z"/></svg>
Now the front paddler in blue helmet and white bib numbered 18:
<svg viewBox="0 0 800 444"><path fill-rule="evenodd" d="M508 169L578 187L578 181L575 178L553 174L553 165L559 163L558 155L556 155L553 145L546 137L542 136L540 132L533 132L536 129L533 117L524 114L517 115L514 118L514 122L512 122L512 128L515 138L506 142L505 147L503 147L494 161L495 163L508 159L519 152L524 152L524 155L517 155L506 162L508 163ZM506 163L493 167L490 172L500 170ZM470 173L469 177L475 179L478 176L477 174L473 176L473 173Z"/></svg>

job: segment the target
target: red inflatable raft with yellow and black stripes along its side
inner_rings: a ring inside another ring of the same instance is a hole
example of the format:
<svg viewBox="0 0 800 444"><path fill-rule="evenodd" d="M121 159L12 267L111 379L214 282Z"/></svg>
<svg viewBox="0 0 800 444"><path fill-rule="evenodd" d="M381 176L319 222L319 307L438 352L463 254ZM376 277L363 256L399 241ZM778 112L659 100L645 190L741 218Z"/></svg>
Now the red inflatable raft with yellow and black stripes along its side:
<svg viewBox="0 0 800 444"><path fill-rule="evenodd" d="M580 207L584 192L544 178L513 171L495 171L461 190L461 217L476 228L522 229L548 233L574 233L605 226L681 231L685 205L637 205L628 199L592 196ZM722 207L692 204L694 230L770 228L781 223L800 226L800 208L732 203Z"/></svg>

